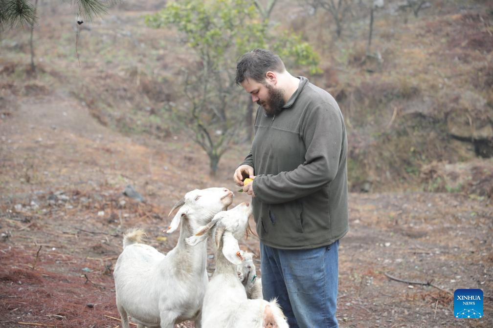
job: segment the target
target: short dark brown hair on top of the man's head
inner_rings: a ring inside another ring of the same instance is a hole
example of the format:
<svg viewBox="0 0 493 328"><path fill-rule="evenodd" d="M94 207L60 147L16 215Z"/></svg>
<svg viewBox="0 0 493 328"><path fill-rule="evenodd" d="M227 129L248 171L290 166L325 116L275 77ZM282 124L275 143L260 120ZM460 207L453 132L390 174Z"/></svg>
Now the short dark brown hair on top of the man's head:
<svg viewBox="0 0 493 328"><path fill-rule="evenodd" d="M265 49L253 49L247 52L236 65L236 84L252 79L265 83L265 73L268 71L284 72L286 70L281 58L272 51Z"/></svg>

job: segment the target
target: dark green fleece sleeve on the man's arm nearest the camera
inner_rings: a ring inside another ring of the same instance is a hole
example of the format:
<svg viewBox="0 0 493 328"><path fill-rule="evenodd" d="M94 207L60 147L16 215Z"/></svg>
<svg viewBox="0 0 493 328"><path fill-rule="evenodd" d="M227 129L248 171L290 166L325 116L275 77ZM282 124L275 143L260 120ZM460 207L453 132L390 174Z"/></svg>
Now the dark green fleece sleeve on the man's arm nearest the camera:
<svg viewBox="0 0 493 328"><path fill-rule="evenodd" d="M279 204L305 197L335 178L344 133L337 104L312 108L301 123L300 133L307 149L305 161L292 171L257 175L253 180L253 192L262 203Z"/></svg>

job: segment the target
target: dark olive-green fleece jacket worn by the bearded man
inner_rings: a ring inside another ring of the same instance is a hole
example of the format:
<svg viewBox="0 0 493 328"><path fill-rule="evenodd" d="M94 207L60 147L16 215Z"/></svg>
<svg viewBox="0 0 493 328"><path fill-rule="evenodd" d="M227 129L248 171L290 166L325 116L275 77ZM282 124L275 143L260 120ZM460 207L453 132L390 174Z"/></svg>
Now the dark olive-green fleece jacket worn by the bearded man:
<svg viewBox="0 0 493 328"><path fill-rule="evenodd" d="M253 215L260 240L284 249L331 244L348 232L348 142L341 110L325 90L300 84L274 117L262 106L252 148Z"/></svg>

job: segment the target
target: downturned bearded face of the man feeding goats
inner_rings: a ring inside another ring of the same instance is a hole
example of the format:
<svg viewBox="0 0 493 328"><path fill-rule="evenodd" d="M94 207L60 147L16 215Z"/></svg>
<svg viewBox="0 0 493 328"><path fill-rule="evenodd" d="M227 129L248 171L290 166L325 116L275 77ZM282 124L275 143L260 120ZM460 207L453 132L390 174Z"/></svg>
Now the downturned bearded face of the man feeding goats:
<svg viewBox="0 0 493 328"><path fill-rule="evenodd" d="M282 106L285 105L284 91L267 81L263 84L253 80L245 80L241 85L251 95L251 100L261 105L269 116L281 112Z"/></svg>

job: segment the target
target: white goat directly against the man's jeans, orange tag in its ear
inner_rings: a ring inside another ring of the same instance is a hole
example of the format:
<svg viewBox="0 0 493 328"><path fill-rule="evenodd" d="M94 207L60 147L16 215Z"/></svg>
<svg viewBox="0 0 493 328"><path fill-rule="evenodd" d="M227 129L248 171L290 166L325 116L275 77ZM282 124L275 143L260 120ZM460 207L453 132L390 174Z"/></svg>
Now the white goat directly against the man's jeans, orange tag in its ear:
<svg viewBox="0 0 493 328"><path fill-rule="evenodd" d="M202 227L196 236L186 240L190 244L197 243L215 225L212 236L216 269L204 297L203 328L288 328L275 300L247 299L245 287L238 279L237 265L242 263L243 257L237 239L243 237L250 215L251 206L242 203L217 213L211 225Z"/></svg>

